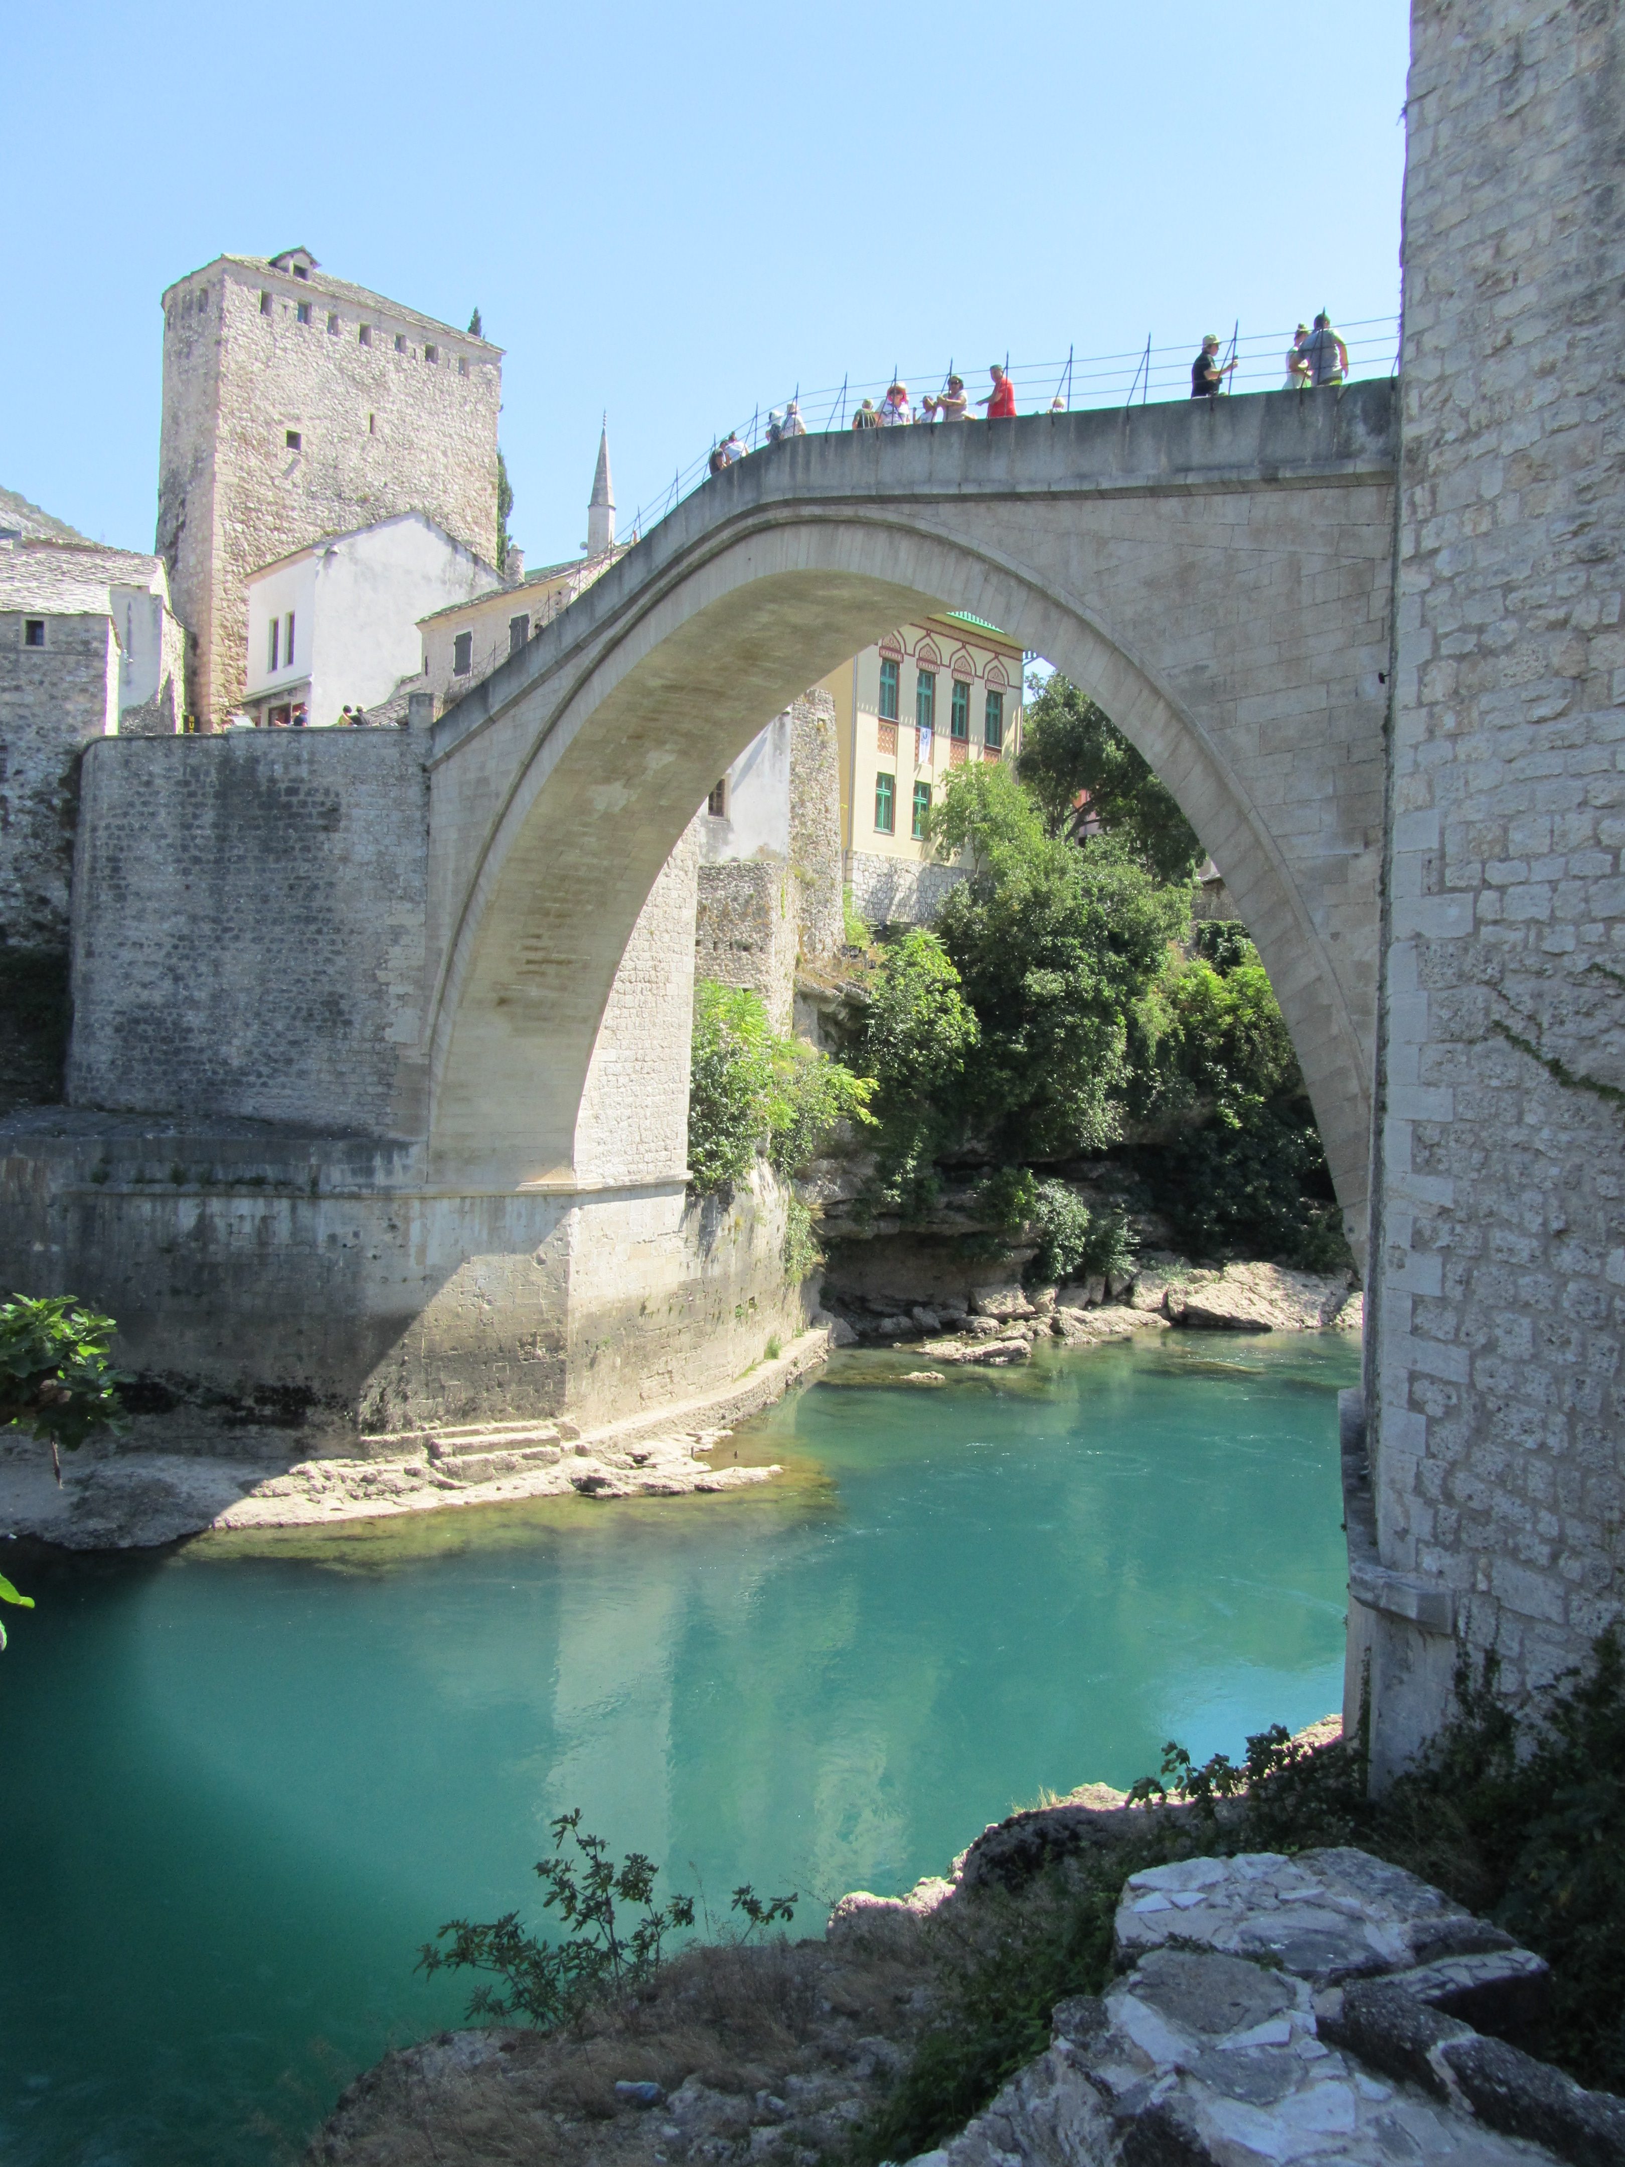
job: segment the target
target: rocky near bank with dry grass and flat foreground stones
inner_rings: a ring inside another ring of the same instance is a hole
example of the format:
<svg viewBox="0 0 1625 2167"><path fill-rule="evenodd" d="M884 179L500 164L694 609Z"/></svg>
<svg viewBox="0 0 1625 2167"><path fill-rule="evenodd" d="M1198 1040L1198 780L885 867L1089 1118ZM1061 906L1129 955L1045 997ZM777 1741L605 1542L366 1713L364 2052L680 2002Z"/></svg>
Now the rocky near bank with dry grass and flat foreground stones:
<svg viewBox="0 0 1625 2167"><path fill-rule="evenodd" d="M1086 1786L988 1829L951 1877L841 1898L821 1939L687 1950L566 2033L442 2033L358 2078L308 2163L864 2158L851 2139L958 2007L953 1981L962 2000L981 1963L1012 1989L999 1948L1042 1939L1077 1903L1077 1866L1131 1861L1146 1829ZM1519 2043L1538 2039L1547 1965L1363 1851L1142 1868L1112 1944L1101 1991L1064 1994L1049 2046L912 2167L1621 2158L1625 2102Z"/></svg>

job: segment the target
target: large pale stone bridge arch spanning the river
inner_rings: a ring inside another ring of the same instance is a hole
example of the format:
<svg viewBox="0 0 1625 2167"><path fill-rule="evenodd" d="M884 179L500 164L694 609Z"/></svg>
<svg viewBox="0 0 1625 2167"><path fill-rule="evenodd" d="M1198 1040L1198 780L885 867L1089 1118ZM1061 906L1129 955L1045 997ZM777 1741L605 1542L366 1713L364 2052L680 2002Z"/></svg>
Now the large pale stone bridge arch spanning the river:
<svg viewBox="0 0 1625 2167"><path fill-rule="evenodd" d="M1369 399L1343 401L1352 416L1226 405L1285 412L778 446L689 498L444 715L435 1179L583 1188L604 1008L696 806L806 685L895 624L962 609L1055 661L1179 797L1259 940L1358 1235L1389 416ZM678 1164L630 1151L620 1179L680 1177L680 1138L652 1142Z"/></svg>

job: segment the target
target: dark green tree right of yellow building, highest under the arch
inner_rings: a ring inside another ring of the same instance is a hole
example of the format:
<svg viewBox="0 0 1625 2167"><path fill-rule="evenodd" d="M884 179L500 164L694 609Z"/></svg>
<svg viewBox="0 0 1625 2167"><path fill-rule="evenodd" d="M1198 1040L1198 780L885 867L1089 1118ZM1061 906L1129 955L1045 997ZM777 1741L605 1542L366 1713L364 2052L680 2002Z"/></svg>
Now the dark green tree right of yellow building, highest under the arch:
<svg viewBox="0 0 1625 2167"><path fill-rule="evenodd" d="M1070 834L1079 793L1101 830L1118 836L1159 880L1190 880L1202 860L1196 830L1122 730L1055 674L1027 702L1016 771L1051 834Z"/></svg>

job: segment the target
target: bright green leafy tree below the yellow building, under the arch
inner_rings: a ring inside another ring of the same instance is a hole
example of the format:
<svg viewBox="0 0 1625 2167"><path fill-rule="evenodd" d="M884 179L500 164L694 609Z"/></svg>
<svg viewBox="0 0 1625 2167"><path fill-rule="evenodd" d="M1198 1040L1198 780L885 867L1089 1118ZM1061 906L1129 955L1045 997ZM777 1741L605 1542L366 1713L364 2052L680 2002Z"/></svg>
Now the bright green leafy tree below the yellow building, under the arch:
<svg viewBox="0 0 1625 2167"><path fill-rule="evenodd" d="M938 936L979 1025L966 1053L968 1125L1001 1157L1098 1151L1118 1136L1129 1012L1190 919L1118 839L1051 834L1005 765L960 769L932 815L940 856L971 854Z"/></svg>

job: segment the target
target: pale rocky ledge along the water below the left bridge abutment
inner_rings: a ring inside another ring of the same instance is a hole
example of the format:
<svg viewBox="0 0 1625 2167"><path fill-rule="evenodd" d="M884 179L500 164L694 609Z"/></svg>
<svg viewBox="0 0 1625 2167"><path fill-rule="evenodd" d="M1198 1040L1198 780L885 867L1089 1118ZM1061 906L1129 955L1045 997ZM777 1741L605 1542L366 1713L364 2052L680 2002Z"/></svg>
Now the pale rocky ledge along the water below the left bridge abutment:
<svg viewBox="0 0 1625 2167"><path fill-rule="evenodd" d="M581 1495L682 1497L767 1482L778 1467L715 1465L730 1426L778 1400L830 1350L828 1326L793 1339L724 1391L578 1430L572 1422L496 1422L366 1439L366 1454L295 1458L152 1450L117 1437L63 1461L30 1439L0 1443L0 1528L63 1549L147 1549L232 1528L323 1528L448 1506Z"/></svg>

